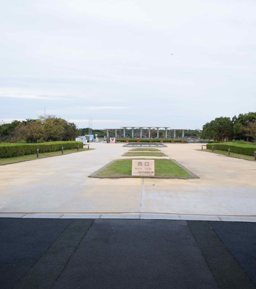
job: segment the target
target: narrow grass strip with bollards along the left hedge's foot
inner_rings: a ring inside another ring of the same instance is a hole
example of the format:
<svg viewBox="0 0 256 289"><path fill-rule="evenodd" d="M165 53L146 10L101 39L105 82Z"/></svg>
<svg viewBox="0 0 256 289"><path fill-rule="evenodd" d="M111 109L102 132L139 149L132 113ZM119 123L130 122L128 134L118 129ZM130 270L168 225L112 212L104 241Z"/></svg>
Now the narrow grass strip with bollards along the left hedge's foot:
<svg viewBox="0 0 256 289"><path fill-rule="evenodd" d="M90 148L89 150L92 150L92 149L93 148ZM87 151L87 150L88 148L80 148L79 151L77 150L77 148L68 149L68 150L64 150L64 155L72 154L72 153L79 153L81 151ZM36 157L36 154L33 154L33 155L19 156L19 157L14 157L14 158L0 159L0 165L21 162L21 161L32 161L36 159L43 159L43 158L56 157L56 156L62 156L62 152L53 151L53 152L48 152L48 153L41 153L41 154L39 153L39 158Z"/></svg>

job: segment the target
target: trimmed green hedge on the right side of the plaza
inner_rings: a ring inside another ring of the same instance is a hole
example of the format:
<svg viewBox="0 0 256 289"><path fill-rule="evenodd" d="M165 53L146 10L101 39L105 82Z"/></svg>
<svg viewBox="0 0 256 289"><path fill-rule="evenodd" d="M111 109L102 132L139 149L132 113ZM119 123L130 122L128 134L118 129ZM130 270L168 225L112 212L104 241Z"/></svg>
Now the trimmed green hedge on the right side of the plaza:
<svg viewBox="0 0 256 289"><path fill-rule="evenodd" d="M223 151L228 151L228 148L230 148L230 152L240 154L240 155L246 155L246 156L254 156L254 152L256 151L255 144L235 144L232 142L226 142L226 143L206 145L207 149L211 149L212 146L213 146L213 149L223 150Z"/></svg>

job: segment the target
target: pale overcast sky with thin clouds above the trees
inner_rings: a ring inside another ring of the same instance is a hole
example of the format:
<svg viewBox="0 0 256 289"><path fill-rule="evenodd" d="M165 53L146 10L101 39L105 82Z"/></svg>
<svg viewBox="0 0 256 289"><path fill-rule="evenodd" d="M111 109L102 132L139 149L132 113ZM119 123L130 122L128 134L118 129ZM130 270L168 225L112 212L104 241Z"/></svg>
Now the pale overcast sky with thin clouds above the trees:
<svg viewBox="0 0 256 289"><path fill-rule="evenodd" d="M256 110L256 0L11 0L0 120L202 128Z"/></svg>

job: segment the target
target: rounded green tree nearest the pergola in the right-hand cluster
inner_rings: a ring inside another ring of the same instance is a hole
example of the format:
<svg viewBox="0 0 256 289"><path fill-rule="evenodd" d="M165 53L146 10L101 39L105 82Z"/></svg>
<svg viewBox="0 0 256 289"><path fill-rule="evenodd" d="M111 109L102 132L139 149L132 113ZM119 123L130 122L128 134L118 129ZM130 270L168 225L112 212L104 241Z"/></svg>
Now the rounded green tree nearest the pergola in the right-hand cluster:
<svg viewBox="0 0 256 289"><path fill-rule="evenodd" d="M229 117L217 117L203 126L202 139L224 141L232 139L233 123Z"/></svg>

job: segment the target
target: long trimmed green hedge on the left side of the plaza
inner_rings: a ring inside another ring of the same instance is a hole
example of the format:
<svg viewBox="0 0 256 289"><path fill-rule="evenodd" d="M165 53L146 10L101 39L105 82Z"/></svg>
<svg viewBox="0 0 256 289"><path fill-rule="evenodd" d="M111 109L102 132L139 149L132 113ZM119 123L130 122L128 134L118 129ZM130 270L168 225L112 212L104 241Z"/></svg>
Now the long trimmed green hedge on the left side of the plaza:
<svg viewBox="0 0 256 289"><path fill-rule="evenodd" d="M59 151L64 149L82 148L82 142L68 141L68 142L50 142L39 144L10 144L0 143L0 158L12 158L17 156L36 154L36 149L39 153L46 153L51 151Z"/></svg>

